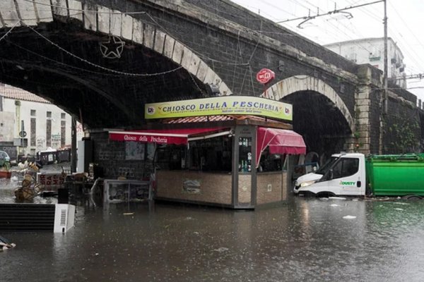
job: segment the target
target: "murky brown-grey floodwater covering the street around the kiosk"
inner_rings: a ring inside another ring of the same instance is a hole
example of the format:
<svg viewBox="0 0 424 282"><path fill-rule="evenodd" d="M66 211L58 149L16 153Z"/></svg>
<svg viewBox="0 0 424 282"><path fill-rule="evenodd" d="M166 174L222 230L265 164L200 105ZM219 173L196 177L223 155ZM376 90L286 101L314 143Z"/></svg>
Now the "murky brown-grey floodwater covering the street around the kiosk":
<svg viewBox="0 0 424 282"><path fill-rule="evenodd" d="M0 281L424 281L424 200L80 204L68 233L0 234Z"/></svg>

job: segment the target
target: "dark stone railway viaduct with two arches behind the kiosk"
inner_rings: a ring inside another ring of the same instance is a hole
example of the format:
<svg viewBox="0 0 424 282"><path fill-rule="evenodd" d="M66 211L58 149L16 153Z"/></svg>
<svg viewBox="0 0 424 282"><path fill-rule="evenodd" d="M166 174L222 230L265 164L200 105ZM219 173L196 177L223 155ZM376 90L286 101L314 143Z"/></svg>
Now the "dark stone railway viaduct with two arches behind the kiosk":
<svg viewBox="0 0 424 282"><path fill-rule="evenodd" d="M101 42L106 51L121 47L119 58L105 58ZM267 97L293 104L293 129L308 150L422 152L416 96L390 82L384 94L381 71L231 1L0 4L0 81L48 99L90 130L141 128L149 102L264 95L255 80L261 68L276 73Z"/></svg>

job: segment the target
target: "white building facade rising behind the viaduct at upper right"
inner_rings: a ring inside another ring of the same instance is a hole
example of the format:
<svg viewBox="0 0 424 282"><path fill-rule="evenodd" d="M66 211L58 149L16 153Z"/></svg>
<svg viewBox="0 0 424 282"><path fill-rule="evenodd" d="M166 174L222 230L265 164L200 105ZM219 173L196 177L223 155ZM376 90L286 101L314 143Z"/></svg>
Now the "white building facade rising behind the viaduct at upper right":
<svg viewBox="0 0 424 282"><path fill-rule="evenodd" d="M384 71L384 37L363 38L326 44L324 47L354 63L370 63ZM396 42L387 38L387 78L406 89L404 55Z"/></svg>

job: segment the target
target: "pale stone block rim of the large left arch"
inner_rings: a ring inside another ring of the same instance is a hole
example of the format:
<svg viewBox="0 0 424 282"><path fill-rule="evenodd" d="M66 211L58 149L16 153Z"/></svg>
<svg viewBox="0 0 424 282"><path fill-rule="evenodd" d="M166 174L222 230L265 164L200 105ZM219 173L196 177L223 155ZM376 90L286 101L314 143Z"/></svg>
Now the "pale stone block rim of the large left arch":
<svg viewBox="0 0 424 282"><path fill-rule="evenodd" d="M54 1L53 6L50 0L6 1L0 5L0 28L35 26L41 22L52 22L54 18L78 20L86 30L115 35L141 44L182 66L204 84L215 85L220 95L232 94L219 75L187 46L153 25L126 13L77 0Z"/></svg>

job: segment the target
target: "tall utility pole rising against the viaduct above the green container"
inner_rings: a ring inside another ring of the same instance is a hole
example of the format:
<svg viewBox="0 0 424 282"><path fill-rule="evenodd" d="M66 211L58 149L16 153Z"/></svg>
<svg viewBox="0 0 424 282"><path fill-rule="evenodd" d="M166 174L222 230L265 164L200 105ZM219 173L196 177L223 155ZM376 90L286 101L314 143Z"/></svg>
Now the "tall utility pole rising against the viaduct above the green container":
<svg viewBox="0 0 424 282"><path fill-rule="evenodd" d="M379 132L379 154L383 153L384 117L387 114L387 0L384 3L384 71L383 71L383 92L380 112L380 132Z"/></svg>

